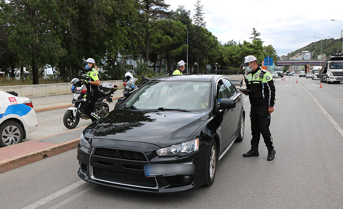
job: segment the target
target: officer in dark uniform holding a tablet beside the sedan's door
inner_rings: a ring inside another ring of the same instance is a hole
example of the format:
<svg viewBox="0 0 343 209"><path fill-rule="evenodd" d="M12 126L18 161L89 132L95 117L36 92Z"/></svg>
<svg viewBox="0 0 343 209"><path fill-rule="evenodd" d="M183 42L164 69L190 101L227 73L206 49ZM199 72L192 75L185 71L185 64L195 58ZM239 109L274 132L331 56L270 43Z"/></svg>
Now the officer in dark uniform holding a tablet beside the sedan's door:
<svg viewBox="0 0 343 209"><path fill-rule="evenodd" d="M269 130L270 116L274 112L275 86L273 76L266 70L258 66L257 59L253 55L244 57L241 66L247 70L245 79L246 88L250 90L242 91L249 95L250 100L250 120L251 120L251 149L243 154L243 157L258 156L258 143L260 135L268 149L268 161L273 161L275 157L274 141Z"/></svg>

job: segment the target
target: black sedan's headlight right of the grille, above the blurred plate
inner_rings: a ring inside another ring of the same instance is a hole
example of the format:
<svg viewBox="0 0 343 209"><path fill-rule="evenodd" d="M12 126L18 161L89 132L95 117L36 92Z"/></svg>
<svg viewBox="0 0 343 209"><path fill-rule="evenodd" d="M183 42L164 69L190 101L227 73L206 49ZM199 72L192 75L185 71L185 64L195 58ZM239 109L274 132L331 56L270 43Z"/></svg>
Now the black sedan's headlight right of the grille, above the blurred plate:
<svg viewBox="0 0 343 209"><path fill-rule="evenodd" d="M156 150L158 156L185 156L199 150L199 139L193 139L181 144L172 145Z"/></svg>

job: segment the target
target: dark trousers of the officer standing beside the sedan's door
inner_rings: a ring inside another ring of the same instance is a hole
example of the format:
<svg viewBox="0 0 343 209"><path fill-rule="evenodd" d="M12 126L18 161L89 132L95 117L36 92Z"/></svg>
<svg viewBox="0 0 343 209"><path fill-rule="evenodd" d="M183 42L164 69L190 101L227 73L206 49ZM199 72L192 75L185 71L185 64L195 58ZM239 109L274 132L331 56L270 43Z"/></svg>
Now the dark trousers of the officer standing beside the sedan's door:
<svg viewBox="0 0 343 209"><path fill-rule="evenodd" d="M274 149L273 138L269 130L270 114L260 115L257 113L250 113L250 121L251 135L253 136L251 139L251 149L258 149L258 143L261 134L268 151Z"/></svg>

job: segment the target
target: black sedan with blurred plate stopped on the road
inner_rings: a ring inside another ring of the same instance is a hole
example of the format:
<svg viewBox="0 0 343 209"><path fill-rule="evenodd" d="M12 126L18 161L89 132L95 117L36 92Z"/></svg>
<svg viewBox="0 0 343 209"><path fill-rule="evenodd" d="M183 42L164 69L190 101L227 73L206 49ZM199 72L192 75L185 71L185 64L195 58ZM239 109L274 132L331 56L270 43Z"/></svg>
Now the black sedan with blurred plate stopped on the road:
<svg viewBox="0 0 343 209"><path fill-rule="evenodd" d="M243 98L219 75L158 77L82 133L79 177L172 193L210 186L217 162L243 140Z"/></svg>

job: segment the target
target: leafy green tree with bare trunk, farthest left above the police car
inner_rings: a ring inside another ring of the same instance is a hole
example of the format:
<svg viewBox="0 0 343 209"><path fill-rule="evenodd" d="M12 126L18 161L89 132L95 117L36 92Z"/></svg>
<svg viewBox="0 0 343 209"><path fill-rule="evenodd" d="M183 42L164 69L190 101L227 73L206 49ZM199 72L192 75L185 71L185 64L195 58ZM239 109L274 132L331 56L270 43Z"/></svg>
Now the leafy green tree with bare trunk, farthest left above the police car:
<svg viewBox="0 0 343 209"><path fill-rule="evenodd" d="M38 67L53 57L61 57L65 51L56 34L60 21L55 0L10 0L13 12L9 47L24 63L32 68L33 84L38 84Z"/></svg>

